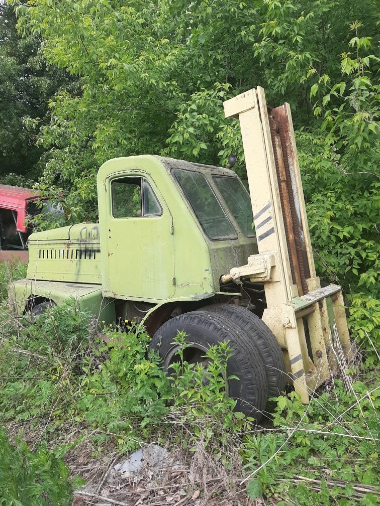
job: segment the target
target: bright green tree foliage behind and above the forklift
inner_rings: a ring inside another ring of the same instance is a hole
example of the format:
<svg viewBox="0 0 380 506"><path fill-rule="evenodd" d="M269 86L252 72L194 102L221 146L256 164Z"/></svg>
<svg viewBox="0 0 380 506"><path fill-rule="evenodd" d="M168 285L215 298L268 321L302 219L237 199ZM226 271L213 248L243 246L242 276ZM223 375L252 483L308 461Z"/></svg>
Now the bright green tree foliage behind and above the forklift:
<svg viewBox="0 0 380 506"><path fill-rule="evenodd" d="M80 79L81 93L51 102L39 138L50 149L42 187L66 190L72 221L96 219L97 168L115 156L225 164L235 152L244 178L222 101L260 85L270 105L292 108L319 268L347 286L378 284L375 0L14 5L20 31Z"/></svg>

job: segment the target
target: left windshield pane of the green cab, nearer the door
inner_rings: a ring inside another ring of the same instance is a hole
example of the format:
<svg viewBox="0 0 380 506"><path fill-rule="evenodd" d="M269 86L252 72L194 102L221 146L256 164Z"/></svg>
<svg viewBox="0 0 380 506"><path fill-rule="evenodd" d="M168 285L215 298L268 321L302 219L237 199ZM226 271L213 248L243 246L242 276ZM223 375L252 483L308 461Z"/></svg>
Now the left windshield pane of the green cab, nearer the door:
<svg viewBox="0 0 380 506"><path fill-rule="evenodd" d="M179 168L173 173L206 234L211 239L237 238L206 178L199 172Z"/></svg>

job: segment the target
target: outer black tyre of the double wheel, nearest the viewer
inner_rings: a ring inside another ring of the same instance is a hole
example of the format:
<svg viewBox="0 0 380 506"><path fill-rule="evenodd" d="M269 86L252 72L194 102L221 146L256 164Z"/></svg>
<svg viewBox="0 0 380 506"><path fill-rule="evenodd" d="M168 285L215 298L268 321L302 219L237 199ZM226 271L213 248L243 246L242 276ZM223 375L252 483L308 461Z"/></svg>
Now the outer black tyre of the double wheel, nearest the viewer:
<svg viewBox="0 0 380 506"><path fill-rule="evenodd" d="M150 349L159 352L163 368L171 373L170 365L179 360L174 344L178 331L185 332L185 342L190 346L184 350L184 360L189 363L202 362L210 346L223 341L229 342L233 355L227 363L230 379L227 395L237 400L236 411L261 418L267 402L267 376L257 350L249 336L228 318L206 311L192 311L172 318L162 325L150 343Z"/></svg>

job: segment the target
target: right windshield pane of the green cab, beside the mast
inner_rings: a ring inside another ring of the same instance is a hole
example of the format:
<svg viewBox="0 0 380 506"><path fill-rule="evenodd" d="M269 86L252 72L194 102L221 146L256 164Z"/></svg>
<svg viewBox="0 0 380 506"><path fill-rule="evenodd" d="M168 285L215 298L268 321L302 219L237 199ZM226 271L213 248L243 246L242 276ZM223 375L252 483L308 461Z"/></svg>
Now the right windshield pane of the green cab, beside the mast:
<svg viewBox="0 0 380 506"><path fill-rule="evenodd" d="M253 237L251 200L241 181L229 176L212 176L212 179L240 230L244 235Z"/></svg>

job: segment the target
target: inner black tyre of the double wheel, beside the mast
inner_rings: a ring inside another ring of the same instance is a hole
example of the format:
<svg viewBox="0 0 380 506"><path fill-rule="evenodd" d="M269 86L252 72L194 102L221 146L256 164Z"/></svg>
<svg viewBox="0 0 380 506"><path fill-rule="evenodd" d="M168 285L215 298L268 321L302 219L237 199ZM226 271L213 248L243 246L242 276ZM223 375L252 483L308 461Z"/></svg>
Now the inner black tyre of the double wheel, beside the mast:
<svg viewBox="0 0 380 506"><path fill-rule="evenodd" d="M213 311L239 325L248 334L264 364L268 379L268 397L278 397L285 389L285 363L281 347L270 328L255 314L234 304L212 304L201 311ZM274 408L268 401L266 410Z"/></svg>

